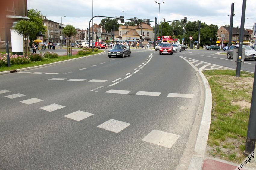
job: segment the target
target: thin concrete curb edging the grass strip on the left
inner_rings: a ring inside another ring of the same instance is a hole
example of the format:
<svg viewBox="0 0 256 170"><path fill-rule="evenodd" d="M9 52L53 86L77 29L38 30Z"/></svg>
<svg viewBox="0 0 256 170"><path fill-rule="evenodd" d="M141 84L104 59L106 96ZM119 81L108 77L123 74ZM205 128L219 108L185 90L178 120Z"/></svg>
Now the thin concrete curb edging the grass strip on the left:
<svg viewBox="0 0 256 170"><path fill-rule="evenodd" d="M68 61L78 60L78 59L81 59L81 58L91 57L91 56L94 56L94 55L100 55L100 54L103 54L103 53L105 53L105 51L103 51L101 53L98 53L98 54L87 55L87 56L78 57L78 58L72 58L72 59L69 59L69 60L57 61L57 62L49 63L49 64L43 64L43 65L27 67L27 68L20 68L20 69L17 69L17 70L13 70L12 72L20 72L20 71L24 71L24 70L31 70L31 69L50 66L50 65L55 65L55 64L59 64L59 63L65 63L65 62L68 62ZM2 71L2 72L0 72L0 75L1 74L8 74L8 73L11 73L11 71Z"/></svg>

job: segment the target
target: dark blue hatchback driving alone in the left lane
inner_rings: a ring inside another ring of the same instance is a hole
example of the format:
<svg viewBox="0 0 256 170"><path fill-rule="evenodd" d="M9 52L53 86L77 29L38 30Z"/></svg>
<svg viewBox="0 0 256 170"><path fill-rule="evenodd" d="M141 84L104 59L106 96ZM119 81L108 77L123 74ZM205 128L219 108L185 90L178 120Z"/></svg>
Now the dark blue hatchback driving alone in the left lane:
<svg viewBox="0 0 256 170"><path fill-rule="evenodd" d="M112 56L124 56L128 55L131 56L131 49L129 46L126 45L115 45L111 50L108 51L108 57L111 58Z"/></svg>

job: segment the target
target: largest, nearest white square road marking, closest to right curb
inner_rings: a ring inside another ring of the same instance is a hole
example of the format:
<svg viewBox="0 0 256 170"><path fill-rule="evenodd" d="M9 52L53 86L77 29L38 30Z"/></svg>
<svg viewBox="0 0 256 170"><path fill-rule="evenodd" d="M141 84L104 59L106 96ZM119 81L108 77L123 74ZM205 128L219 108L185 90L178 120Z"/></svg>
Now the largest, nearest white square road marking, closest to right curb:
<svg viewBox="0 0 256 170"><path fill-rule="evenodd" d="M142 140L156 145L171 148L179 137L180 135L176 135L173 133L167 133L160 130L152 130Z"/></svg>

